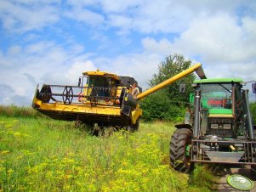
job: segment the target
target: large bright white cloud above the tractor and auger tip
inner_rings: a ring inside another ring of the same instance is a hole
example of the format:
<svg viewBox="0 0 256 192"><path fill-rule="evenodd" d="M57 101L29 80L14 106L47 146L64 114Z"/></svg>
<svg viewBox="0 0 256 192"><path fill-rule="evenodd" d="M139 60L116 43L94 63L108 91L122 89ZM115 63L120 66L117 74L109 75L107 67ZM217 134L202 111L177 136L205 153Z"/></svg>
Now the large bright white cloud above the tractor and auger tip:
<svg viewBox="0 0 256 192"><path fill-rule="evenodd" d="M238 24L229 14L214 14L191 21L174 42L145 37L142 44L149 53L197 56L208 76L238 76L249 81L256 76L255 27L256 20L251 17L242 18Z"/></svg>

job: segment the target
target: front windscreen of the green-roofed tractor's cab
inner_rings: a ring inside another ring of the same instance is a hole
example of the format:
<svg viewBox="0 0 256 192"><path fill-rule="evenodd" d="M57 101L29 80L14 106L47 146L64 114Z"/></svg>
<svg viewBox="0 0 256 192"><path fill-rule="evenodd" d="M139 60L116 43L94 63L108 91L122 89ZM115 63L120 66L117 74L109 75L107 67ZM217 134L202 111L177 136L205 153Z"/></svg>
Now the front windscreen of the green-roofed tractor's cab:
<svg viewBox="0 0 256 192"><path fill-rule="evenodd" d="M232 85L228 83L202 84L203 109L231 109Z"/></svg>

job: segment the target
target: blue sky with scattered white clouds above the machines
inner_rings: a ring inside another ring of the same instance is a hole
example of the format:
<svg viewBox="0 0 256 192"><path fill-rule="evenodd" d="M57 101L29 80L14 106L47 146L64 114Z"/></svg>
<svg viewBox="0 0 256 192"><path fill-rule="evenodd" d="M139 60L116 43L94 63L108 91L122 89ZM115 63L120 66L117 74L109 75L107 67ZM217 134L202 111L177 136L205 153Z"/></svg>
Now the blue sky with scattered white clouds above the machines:
<svg viewBox="0 0 256 192"><path fill-rule="evenodd" d="M174 54L255 81L255 45L255 0L1 0L0 104L29 106L37 83L77 85L96 69L145 89Z"/></svg>

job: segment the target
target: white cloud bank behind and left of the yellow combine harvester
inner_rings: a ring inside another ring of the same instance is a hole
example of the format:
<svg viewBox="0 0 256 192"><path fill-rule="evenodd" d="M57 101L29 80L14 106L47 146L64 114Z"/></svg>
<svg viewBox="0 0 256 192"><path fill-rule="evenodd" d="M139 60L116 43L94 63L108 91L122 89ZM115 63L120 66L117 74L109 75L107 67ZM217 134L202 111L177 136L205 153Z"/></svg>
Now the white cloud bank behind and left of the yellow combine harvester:
<svg viewBox="0 0 256 192"><path fill-rule="evenodd" d="M77 44L62 48L55 42L37 42L24 48L14 45L6 54L0 51L0 104L28 104L37 83L76 85L82 71L96 69L82 50Z"/></svg>

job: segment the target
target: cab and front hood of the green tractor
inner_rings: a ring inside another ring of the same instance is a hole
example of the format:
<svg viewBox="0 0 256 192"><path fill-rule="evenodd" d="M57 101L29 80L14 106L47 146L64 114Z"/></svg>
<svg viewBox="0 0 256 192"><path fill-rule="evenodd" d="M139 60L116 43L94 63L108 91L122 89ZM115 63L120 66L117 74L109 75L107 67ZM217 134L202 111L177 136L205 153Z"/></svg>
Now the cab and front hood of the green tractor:
<svg viewBox="0 0 256 192"><path fill-rule="evenodd" d="M236 123L236 103L242 99L241 83L242 79L205 79L193 83L195 91L201 93L200 137L237 138L244 134ZM194 95L191 94L191 103Z"/></svg>

